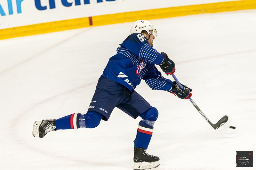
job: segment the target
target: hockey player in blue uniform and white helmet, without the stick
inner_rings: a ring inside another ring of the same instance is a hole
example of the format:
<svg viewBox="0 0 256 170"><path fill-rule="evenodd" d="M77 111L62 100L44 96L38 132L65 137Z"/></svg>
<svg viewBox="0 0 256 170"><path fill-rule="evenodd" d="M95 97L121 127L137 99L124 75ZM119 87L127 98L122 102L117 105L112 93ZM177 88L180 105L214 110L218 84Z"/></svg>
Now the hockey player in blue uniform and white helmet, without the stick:
<svg viewBox="0 0 256 170"><path fill-rule="evenodd" d="M156 29L146 20L138 20L117 53L112 56L100 76L94 96L86 114L74 113L57 120L36 121L33 136L43 138L50 131L60 129L95 128L100 120L108 121L115 107L132 118L141 117L134 140L134 169L150 169L159 166L159 157L146 152L158 111L135 90L141 79L153 90L165 90L181 99L188 99L192 91L187 86L181 90L177 83L161 76L155 65L166 74L173 74L175 64L166 53L153 48ZM146 165L144 165L146 164Z"/></svg>

